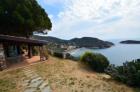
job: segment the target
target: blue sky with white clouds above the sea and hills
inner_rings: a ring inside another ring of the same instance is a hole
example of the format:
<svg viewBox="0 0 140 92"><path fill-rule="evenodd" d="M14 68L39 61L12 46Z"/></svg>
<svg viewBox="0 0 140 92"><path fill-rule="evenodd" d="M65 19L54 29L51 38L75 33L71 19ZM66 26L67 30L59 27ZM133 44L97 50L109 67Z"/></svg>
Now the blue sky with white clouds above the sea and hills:
<svg viewBox="0 0 140 92"><path fill-rule="evenodd" d="M61 39L97 37L140 40L140 0L37 0Z"/></svg>

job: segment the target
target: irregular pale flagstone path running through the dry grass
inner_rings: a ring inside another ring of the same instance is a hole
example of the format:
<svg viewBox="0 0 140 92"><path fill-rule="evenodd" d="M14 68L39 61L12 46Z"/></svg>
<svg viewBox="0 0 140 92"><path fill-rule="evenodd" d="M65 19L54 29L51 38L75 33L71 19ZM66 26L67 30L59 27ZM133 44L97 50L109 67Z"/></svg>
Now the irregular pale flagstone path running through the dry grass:
<svg viewBox="0 0 140 92"><path fill-rule="evenodd" d="M22 86L24 92L51 92L49 83L30 68L23 69L26 80L23 80Z"/></svg>

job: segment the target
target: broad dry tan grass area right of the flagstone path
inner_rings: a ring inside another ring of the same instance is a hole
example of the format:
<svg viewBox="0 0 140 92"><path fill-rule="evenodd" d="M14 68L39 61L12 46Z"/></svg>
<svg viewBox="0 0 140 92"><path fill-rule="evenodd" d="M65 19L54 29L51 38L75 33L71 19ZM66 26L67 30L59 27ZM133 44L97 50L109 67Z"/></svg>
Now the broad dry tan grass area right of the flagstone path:
<svg viewBox="0 0 140 92"><path fill-rule="evenodd" d="M136 92L104 78L105 74L92 72L71 60L50 57L47 62L33 66L33 69L49 80L52 92Z"/></svg>

